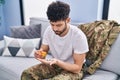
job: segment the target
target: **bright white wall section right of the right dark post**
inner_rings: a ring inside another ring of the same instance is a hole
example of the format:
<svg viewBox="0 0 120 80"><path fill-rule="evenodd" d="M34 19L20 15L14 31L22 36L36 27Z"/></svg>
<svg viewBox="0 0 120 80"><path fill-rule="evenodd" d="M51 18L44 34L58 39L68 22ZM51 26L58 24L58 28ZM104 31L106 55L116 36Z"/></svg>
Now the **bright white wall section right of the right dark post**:
<svg viewBox="0 0 120 80"><path fill-rule="evenodd" d="M120 23L120 0L110 0L108 19Z"/></svg>

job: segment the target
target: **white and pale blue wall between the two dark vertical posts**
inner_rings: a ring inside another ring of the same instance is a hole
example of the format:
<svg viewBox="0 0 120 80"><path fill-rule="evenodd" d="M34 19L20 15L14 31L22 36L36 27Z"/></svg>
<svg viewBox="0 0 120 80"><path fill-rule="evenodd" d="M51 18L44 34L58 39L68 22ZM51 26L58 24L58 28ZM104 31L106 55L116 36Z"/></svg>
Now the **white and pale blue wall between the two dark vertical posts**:
<svg viewBox="0 0 120 80"><path fill-rule="evenodd" d="M56 0L23 0L25 24L30 17L44 17L48 5ZM103 0L57 0L68 3L71 7L71 22L85 23L102 19Z"/></svg>

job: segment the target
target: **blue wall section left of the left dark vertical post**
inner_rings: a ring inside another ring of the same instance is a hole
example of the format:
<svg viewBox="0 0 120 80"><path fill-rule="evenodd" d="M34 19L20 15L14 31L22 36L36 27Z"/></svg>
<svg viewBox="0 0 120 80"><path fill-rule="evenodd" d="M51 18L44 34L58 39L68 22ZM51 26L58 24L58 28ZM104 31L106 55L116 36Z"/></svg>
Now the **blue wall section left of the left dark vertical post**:
<svg viewBox="0 0 120 80"><path fill-rule="evenodd" d="M19 0L5 0L3 5L4 27L6 35L10 35L11 26L21 25Z"/></svg>

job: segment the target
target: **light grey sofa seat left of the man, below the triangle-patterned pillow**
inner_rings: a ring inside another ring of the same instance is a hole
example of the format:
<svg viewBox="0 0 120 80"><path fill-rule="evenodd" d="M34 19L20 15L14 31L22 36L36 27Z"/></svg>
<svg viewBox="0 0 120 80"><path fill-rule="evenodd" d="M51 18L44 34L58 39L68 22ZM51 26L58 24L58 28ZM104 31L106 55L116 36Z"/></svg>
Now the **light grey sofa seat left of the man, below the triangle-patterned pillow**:
<svg viewBox="0 0 120 80"><path fill-rule="evenodd" d="M47 55L46 58L52 57ZM0 56L0 80L21 80L21 74L25 69L39 63L40 61L35 58Z"/></svg>

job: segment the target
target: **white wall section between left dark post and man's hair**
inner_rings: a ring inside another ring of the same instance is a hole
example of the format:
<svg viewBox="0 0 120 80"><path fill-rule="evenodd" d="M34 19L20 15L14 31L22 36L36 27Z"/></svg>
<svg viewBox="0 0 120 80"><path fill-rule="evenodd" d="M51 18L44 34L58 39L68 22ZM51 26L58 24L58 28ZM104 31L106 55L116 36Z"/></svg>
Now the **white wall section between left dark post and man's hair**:
<svg viewBox="0 0 120 80"><path fill-rule="evenodd" d="M23 0L25 25L29 24L30 17L47 18L48 5L55 0Z"/></svg>

